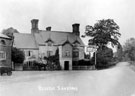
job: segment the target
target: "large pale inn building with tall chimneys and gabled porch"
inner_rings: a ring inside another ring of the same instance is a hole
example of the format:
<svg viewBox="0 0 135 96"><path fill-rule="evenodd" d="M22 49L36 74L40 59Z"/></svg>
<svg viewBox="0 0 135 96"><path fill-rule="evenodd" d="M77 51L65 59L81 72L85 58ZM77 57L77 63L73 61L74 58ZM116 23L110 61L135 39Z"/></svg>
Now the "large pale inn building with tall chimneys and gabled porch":
<svg viewBox="0 0 135 96"><path fill-rule="evenodd" d="M59 50L59 62L62 69L72 70L74 62L84 59L84 43L80 38L79 24L73 24L73 32L39 30L38 19L31 20L31 33L14 33L14 47L25 53L25 62L31 67L33 60L55 55Z"/></svg>

